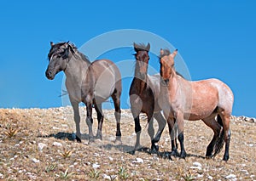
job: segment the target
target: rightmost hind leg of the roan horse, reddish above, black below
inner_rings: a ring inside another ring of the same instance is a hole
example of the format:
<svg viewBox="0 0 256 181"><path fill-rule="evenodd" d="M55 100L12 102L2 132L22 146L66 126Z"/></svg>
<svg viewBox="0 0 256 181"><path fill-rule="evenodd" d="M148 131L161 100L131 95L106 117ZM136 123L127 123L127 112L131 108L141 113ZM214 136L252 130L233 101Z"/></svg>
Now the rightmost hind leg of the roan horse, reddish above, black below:
<svg viewBox="0 0 256 181"><path fill-rule="evenodd" d="M224 161L228 161L230 158L230 137L231 137L231 131L230 131L230 114L225 112L224 110L221 111L219 116L222 119L223 122L223 128L224 128L224 141L225 141L225 151L224 151Z"/></svg>

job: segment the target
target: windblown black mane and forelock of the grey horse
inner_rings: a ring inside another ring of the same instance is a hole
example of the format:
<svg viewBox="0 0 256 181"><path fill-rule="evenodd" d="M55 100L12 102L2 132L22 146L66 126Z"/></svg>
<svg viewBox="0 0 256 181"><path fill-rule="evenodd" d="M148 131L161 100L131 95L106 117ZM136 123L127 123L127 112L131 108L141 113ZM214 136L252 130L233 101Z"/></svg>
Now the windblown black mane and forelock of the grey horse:
<svg viewBox="0 0 256 181"><path fill-rule="evenodd" d="M48 59L50 59L50 57L52 56L52 54L54 54L56 51L58 51L59 48L61 48L61 46L65 45L67 43L68 48L70 48L71 52L76 56L79 55L79 58L81 58L82 60L84 60L85 62L90 63L90 60L88 59L87 56L85 56L84 54L80 53L78 48L72 43L72 42L58 42L55 45L53 45L50 50L49 50L49 54L48 54Z"/></svg>

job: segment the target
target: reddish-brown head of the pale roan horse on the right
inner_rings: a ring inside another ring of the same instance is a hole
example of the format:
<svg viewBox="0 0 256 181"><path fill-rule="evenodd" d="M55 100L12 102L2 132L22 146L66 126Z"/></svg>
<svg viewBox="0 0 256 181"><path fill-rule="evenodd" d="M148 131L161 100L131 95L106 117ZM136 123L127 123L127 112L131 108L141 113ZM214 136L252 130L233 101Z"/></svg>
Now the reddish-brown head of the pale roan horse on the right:
<svg viewBox="0 0 256 181"><path fill-rule="evenodd" d="M168 49L160 50L160 76L161 82L168 84L170 76L172 76L172 70L174 67L174 58L177 54L177 49L171 54Z"/></svg>

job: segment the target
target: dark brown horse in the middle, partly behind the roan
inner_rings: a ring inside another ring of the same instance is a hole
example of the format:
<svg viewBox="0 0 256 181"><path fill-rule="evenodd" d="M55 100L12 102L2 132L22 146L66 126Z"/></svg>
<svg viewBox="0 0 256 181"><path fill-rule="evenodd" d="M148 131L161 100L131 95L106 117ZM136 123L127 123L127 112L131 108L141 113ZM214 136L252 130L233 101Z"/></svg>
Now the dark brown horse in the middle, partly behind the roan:
<svg viewBox="0 0 256 181"><path fill-rule="evenodd" d="M155 145L160 140L161 133L166 126L166 120L160 113L160 106L157 99L160 94L160 75L149 76L148 75L148 51L150 44L147 46L144 44L133 44L136 51L136 68L133 80L130 87L130 104L131 113L135 122L135 133L137 133L137 139L135 144L135 150L141 147L140 134L142 127L140 125L139 114L141 112L148 116L148 134L151 139L151 151L156 152L159 150L159 146ZM158 132L154 137L153 117L158 122ZM134 150L134 151L135 151Z"/></svg>

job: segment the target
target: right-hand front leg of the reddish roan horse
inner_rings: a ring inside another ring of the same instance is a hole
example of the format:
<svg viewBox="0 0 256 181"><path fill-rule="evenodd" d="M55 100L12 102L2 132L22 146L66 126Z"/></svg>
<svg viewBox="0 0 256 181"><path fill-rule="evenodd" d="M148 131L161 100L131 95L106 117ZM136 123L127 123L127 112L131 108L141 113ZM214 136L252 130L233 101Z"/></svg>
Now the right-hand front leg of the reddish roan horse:
<svg viewBox="0 0 256 181"><path fill-rule="evenodd" d="M183 130L184 130L184 120L183 120L183 114L181 112L177 112L177 127L178 127L178 136L177 139L180 143L180 157L185 158L187 156L185 148L184 148L184 135L183 135Z"/></svg>

